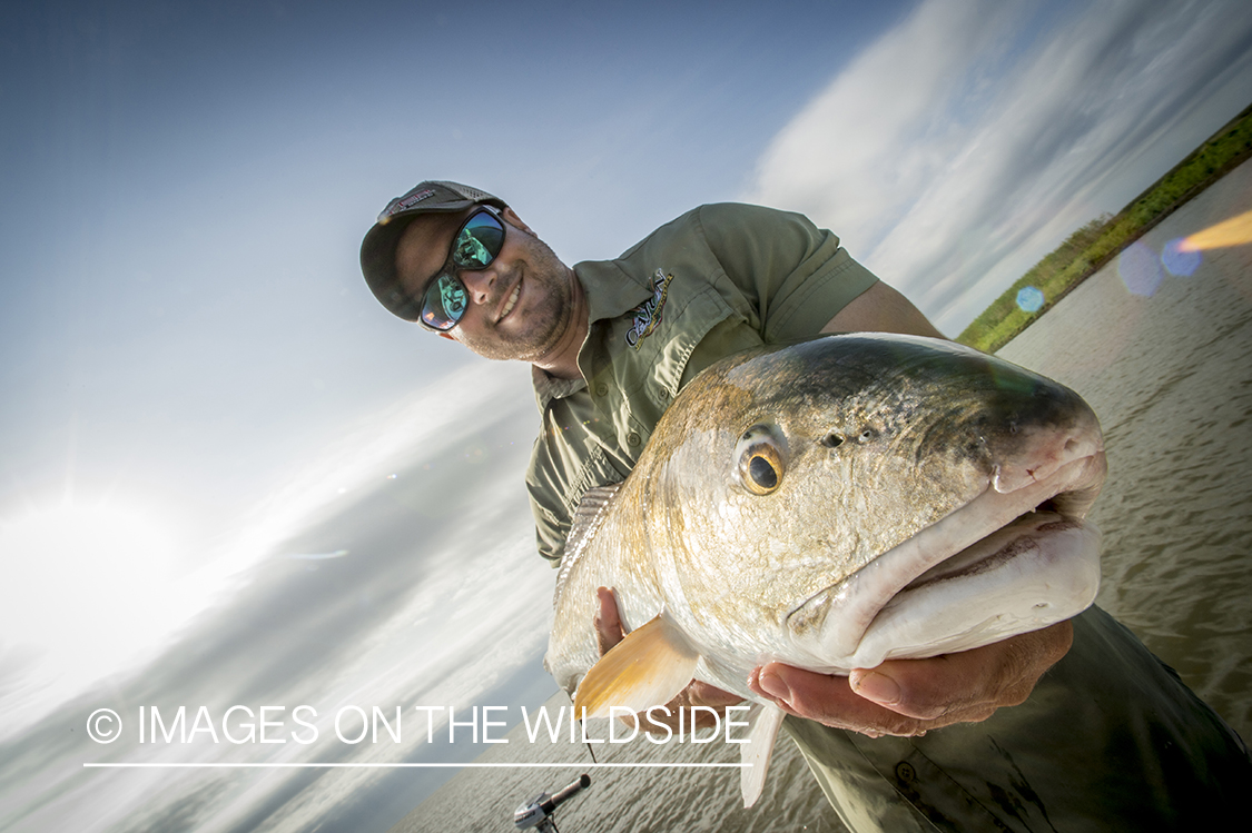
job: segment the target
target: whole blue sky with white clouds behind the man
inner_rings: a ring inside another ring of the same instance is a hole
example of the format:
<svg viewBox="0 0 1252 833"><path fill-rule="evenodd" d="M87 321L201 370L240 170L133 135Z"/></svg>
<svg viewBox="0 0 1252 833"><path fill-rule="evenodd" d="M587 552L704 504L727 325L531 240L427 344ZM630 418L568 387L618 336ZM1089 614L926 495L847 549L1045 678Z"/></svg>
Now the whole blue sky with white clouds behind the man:
<svg viewBox="0 0 1252 833"><path fill-rule="evenodd" d="M81 764L473 749L84 723L553 690L528 373L357 265L417 181L570 264L803 211L954 335L1252 103L1237 1L677 5L0 9L0 827L386 830L432 779Z"/></svg>

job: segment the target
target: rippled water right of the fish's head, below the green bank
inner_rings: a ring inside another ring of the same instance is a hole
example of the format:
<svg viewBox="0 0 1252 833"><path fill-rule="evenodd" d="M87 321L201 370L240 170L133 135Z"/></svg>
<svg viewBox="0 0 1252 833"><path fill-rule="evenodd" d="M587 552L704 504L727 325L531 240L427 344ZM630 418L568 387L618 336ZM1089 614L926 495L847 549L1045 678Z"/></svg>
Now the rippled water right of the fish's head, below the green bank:
<svg viewBox="0 0 1252 833"><path fill-rule="evenodd" d="M1191 276L1162 269L1159 258L1174 266L1172 239L1249 208L1244 164L1144 235L1134 258L1084 283L1000 350L1072 386L1101 416L1109 475L1092 513L1104 530L1097 604L1244 739L1252 738L1252 245L1204 251ZM1136 294L1153 284L1152 294Z"/></svg>

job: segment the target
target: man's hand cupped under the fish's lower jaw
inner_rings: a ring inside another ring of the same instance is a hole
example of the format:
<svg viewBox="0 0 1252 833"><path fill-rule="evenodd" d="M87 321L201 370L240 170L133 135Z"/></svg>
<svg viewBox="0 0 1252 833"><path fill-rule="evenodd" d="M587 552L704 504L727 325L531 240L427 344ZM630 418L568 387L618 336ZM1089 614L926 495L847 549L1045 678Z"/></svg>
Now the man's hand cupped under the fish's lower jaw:
<svg viewBox="0 0 1252 833"><path fill-rule="evenodd" d="M889 659L850 677L828 677L769 663L749 688L788 714L870 737L925 734L953 723L978 723L1002 705L1024 702L1043 673L1073 644L1074 628L1043 630L930 659Z"/></svg>

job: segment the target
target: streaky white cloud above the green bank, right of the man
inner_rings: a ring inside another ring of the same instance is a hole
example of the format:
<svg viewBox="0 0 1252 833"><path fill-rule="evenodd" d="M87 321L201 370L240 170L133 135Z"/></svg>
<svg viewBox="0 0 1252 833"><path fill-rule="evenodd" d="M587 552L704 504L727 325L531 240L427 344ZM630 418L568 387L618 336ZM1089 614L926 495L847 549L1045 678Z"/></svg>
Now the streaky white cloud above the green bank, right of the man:
<svg viewBox="0 0 1252 833"><path fill-rule="evenodd" d="M959 330L1246 101L1236 3L920 5L762 155L747 199L810 214Z"/></svg>

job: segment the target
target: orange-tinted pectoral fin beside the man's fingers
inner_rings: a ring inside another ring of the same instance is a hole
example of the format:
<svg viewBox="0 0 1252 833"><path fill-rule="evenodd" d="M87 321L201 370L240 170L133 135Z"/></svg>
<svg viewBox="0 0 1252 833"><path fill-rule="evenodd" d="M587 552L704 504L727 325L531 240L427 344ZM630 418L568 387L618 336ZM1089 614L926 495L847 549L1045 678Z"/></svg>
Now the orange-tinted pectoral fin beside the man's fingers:
<svg viewBox="0 0 1252 833"><path fill-rule="evenodd" d="M697 659L682 633L659 615L591 667L578 684L575 713L602 718L611 705L632 712L664 705L691 682Z"/></svg>

